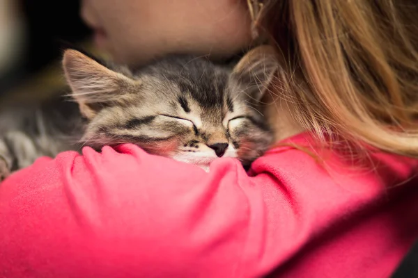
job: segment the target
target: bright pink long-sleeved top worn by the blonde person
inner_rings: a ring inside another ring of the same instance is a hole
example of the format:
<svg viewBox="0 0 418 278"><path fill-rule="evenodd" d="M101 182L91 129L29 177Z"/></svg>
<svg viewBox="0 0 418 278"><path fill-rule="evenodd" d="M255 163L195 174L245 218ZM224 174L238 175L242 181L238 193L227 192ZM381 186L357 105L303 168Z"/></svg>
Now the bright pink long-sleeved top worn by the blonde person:
<svg viewBox="0 0 418 278"><path fill-rule="evenodd" d="M277 148L250 177L134 145L40 158L0 186L0 277L388 277L418 236L418 162L325 157Z"/></svg>

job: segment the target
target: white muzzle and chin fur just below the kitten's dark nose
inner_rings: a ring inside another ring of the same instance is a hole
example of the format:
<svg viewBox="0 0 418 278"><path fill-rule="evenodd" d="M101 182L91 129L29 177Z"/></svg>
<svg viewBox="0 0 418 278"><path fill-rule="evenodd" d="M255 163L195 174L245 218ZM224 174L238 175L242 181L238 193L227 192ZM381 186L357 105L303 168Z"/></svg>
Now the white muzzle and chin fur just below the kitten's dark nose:
<svg viewBox="0 0 418 278"><path fill-rule="evenodd" d="M222 157L237 157L237 152L233 147L228 147L224 156ZM209 166L212 161L218 158L213 151L204 151L204 152L178 152L177 154L171 156L176 161L181 161L185 163L190 163L201 167L206 172L209 172Z"/></svg>

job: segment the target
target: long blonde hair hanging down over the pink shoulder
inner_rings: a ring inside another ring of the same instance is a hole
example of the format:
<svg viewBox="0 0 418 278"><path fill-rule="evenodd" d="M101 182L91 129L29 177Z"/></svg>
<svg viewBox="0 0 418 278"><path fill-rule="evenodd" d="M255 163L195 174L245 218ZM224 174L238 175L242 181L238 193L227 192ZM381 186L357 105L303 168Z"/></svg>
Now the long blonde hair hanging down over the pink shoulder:
<svg viewBox="0 0 418 278"><path fill-rule="evenodd" d="M284 62L277 86L300 124L323 141L418 157L415 1L263 2L261 26Z"/></svg>

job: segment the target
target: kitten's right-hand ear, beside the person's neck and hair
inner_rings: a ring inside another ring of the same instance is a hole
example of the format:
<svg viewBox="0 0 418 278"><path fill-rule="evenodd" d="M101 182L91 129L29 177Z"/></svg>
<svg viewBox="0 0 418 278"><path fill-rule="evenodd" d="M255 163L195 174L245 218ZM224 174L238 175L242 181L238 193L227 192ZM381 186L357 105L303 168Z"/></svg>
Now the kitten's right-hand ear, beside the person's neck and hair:
<svg viewBox="0 0 418 278"><path fill-rule="evenodd" d="M232 76L245 86L245 92L260 101L279 67L276 51L263 45L251 49L233 68Z"/></svg>

